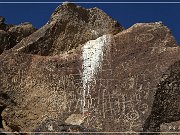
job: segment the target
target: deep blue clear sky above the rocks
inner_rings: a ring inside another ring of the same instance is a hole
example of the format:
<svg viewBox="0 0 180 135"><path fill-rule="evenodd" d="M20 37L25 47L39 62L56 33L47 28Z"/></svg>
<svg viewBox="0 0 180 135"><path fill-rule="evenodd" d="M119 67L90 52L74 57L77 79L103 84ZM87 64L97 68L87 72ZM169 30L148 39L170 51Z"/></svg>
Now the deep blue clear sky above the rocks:
<svg viewBox="0 0 180 135"><path fill-rule="evenodd" d="M20 2L23 0L8 0L8 1ZM29 1L37 2L37 0L29 0ZM38 0L38 1L51 2L50 0ZM81 1L85 1L85 0L81 0ZM94 0L94 1L102 2L103 0ZM129 1L134 2L134 0L129 0ZM143 0L138 0L138 1L143 1ZM159 2L162 1L166 2L167 0L159 0ZM3 2L3 0L0 0L0 2ZM7 0L4 0L4 2L7 2ZM0 16L4 16L6 18L7 23L19 24L21 22L31 22L35 27L39 28L48 21L50 15L58 5L59 4L0 3ZM85 8L98 7L104 10L109 16L117 20L125 28L128 28L138 22L162 21L165 25L167 25L171 29L177 42L180 43L180 3L179 4L92 4L91 3L91 4L78 4L78 5L83 6Z"/></svg>

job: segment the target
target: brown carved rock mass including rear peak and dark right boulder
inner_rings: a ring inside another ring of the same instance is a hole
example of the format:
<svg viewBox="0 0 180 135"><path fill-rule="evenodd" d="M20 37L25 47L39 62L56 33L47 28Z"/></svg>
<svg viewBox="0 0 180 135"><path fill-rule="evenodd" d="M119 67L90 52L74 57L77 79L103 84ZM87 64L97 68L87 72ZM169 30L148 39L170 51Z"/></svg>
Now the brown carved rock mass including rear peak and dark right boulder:
<svg viewBox="0 0 180 135"><path fill-rule="evenodd" d="M125 30L100 9L63 4L0 55L2 128L165 131L180 120L179 60L161 22Z"/></svg>

